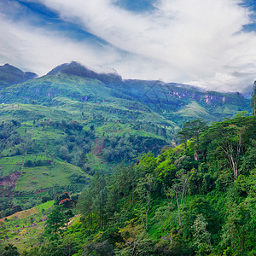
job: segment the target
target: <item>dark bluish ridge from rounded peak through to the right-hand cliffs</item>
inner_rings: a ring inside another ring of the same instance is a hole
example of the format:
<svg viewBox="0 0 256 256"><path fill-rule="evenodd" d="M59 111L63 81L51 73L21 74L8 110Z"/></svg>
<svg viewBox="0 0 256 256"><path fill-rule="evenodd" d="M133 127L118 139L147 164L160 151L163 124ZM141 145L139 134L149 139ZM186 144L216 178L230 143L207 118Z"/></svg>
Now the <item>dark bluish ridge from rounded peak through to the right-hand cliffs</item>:
<svg viewBox="0 0 256 256"><path fill-rule="evenodd" d="M182 125L187 119L194 119L195 116L207 121L216 121L225 117L231 118L239 111L249 111L249 101L239 93L202 91L185 84L161 81L123 80L117 73L96 73L74 61L55 67L48 74L57 73L100 80L104 86L111 89L111 96L141 102L155 113L177 122L178 125ZM193 102L199 108L196 109L194 104L193 113L189 113L187 106ZM201 108L204 108L205 114ZM199 115L195 114L196 112Z"/></svg>

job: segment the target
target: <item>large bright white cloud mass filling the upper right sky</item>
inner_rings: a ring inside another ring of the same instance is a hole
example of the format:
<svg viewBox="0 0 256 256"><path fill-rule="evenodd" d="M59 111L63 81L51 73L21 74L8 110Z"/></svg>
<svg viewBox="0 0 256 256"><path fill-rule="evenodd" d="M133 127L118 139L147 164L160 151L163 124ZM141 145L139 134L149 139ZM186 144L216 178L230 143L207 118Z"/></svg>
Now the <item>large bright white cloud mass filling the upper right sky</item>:
<svg viewBox="0 0 256 256"><path fill-rule="evenodd" d="M125 76L148 75L198 85L203 80L211 89L223 90L242 90L253 84L252 75L247 75L252 67L247 64L256 61L256 36L241 32L250 22L250 13L238 1L160 0L157 11L146 15L119 9L110 0L42 1L63 19L79 19L110 44L142 55L132 69L121 65ZM144 64L145 58L152 61ZM139 74L136 67L144 69ZM232 75L236 71L244 76Z"/></svg>

